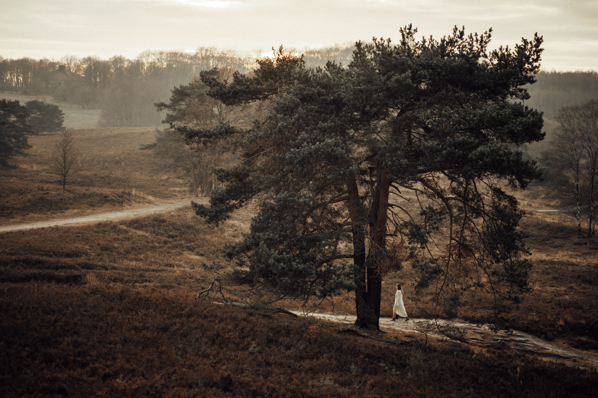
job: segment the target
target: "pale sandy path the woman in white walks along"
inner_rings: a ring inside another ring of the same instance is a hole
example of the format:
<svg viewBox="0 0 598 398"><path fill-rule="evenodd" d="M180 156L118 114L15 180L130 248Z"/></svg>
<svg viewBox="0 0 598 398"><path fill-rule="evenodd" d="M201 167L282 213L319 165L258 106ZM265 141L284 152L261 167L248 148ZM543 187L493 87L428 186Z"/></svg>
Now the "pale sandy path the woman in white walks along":
<svg viewBox="0 0 598 398"><path fill-rule="evenodd" d="M300 311L291 311L299 316L303 315ZM355 316L335 316L330 314L312 313L309 316L332 320L335 322L352 325L355 323ZM421 323L419 323L421 322ZM421 325L427 323L427 319L410 318L407 322L398 319L394 322L390 318L380 318L380 330L392 334L392 332L402 332L402 337L413 337L419 340L425 339L425 335L417 329L422 329ZM446 321L439 320L439 323L446 323ZM560 363L565 363L570 366L579 366L581 368L598 368L598 354L590 351L576 350L575 348L565 347L563 345L554 344L550 341L542 340L527 333L513 331L493 332L487 326L473 325L465 322L451 322L451 326L466 332L463 342L466 344L477 345L487 348L510 348L516 351L524 351L526 353L538 356L541 359L553 360ZM428 337L447 339L438 331L429 332Z"/></svg>

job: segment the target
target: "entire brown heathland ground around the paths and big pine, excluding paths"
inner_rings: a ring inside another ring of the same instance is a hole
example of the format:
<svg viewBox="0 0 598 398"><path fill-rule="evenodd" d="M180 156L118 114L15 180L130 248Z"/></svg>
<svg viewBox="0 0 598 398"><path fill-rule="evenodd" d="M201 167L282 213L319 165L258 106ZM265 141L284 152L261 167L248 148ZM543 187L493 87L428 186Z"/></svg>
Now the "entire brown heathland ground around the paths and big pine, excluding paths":
<svg viewBox="0 0 598 398"><path fill-rule="evenodd" d="M187 196L182 181L161 185L148 174L151 153L138 147L152 141L151 129L94 129L79 134L89 138L87 150L99 148L102 160L89 155L78 179L62 195L56 178L45 173L44 150L35 144L35 140L49 143L51 137L33 137L32 155L17 162L23 168L5 172L0 181L2 224ZM125 149L120 149L121 142ZM533 188L533 195L518 195L529 208L546 208L542 192ZM194 300L213 276L209 270L213 261L225 269L229 266L219 249L242 237L251 215L240 212L215 228L190 209L178 209L117 223L2 233L4 396L598 393L595 369L545 362L508 348L488 350L446 341L425 345L423 339L381 343L338 334L334 323ZM560 213L529 211L522 227L530 233L534 290L509 314L512 325L595 352L598 241L577 239L574 224ZM405 286L410 316L428 313L424 302L414 300L412 277L409 264L386 277L384 316L390 316L395 281ZM352 313L353 300L350 294L336 297L334 310ZM298 308L299 304L277 305ZM332 310L332 305L324 303L319 310ZM463 303L459 318L484 321L472 303Z"/></svg>

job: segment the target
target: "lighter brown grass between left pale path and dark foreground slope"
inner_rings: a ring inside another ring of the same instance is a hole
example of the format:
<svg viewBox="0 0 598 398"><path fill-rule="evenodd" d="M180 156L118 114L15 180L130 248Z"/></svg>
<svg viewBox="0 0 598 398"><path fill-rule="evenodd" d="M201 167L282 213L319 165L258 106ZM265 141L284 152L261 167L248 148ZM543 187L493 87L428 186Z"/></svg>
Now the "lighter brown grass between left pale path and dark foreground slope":
<svg viewBox="0 0 598 398"><path fill-rule="evenodd" d="M248 217L228 223L239 228ZM234 241L227 231L208 226L190 209L179 209L121 223L3 233L0 280L78 285L89 283L97 272L101 280L185 288L192 295L207 285L198 285L188 273L207 281L212 274L202 264L227 265L220 254L222 243Z"/></svg>

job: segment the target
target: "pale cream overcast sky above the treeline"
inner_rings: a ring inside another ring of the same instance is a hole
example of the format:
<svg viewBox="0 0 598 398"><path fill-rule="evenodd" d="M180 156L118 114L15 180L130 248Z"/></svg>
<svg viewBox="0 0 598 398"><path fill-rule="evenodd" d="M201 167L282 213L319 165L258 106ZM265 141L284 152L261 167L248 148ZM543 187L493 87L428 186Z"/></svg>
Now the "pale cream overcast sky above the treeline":
<svg viewBox="0 0 598 398"><path fill-rule="evenodd" d="M598 70L598 0L0 0L0 56L124 55L215 46L299 50L373 36L493 28L493 47L544 36L542 69Z"/></svg>

